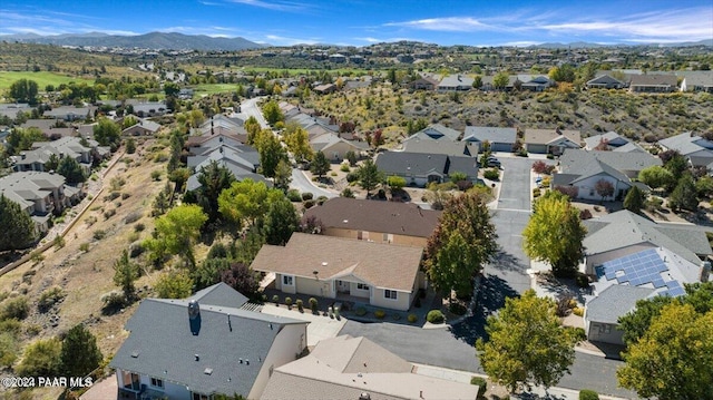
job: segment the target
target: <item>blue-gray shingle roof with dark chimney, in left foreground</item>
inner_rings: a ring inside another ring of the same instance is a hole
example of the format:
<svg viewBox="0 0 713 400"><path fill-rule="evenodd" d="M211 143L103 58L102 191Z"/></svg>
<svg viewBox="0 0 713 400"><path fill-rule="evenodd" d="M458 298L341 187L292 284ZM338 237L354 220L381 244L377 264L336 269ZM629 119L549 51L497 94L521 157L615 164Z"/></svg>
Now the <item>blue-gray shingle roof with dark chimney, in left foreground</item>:
<svg viewBox="0 0 713 400"><path fill-rule="evenodd" d="M282 326L307 323L205 303L199 308L199 330L193 334L187 300L141 301L126 323L130 334L111 360L111 368L201 393L247 396L263 368L261 360L267 357ZM250 364L238 359L250 360ZM213 370L211 374L205 373L207 368Z"/></svg>

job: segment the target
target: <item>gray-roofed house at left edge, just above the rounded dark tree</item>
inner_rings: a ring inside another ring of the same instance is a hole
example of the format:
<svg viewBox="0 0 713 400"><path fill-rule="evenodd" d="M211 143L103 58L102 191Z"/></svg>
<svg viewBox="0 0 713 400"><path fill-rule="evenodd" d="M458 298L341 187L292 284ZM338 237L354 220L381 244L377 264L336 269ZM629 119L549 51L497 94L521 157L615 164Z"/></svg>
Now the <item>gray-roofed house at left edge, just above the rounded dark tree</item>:
<svg viewBox="0 0 713 400"><path fill-rule="evenodd" d="M78 202L81 192L66 186L59 174L18 172L0 177L0 195L19 204L32 218L36 232L42 234L49 230L51 214Z"/></svg>

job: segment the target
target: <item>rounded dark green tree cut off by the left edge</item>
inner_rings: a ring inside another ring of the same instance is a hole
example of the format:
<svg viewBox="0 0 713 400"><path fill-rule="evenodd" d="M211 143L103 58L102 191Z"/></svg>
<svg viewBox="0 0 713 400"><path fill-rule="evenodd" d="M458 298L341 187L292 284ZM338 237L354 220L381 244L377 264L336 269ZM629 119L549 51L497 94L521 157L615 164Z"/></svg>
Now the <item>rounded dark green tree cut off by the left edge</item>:
<svg viewBox="0 0 713 400"><path fill-rule="evenodd" d="M0 252L27 248L37 240L30 215L3 193L0 193Z"/></svg>

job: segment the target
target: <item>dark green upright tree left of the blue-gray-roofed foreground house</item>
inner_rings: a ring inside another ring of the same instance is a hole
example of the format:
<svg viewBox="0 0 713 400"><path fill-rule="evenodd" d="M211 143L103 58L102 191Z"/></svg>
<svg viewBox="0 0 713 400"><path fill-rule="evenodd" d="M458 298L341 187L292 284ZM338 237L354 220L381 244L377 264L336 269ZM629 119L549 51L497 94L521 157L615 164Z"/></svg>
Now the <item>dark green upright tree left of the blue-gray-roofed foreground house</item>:
<svg viewBox="0 0 713 400"><path fill-rule="evenodd" d="M72 326L65 334L59 357L64 375L86 377L99 367L102 359L97 338L82 323Z"/></svg>

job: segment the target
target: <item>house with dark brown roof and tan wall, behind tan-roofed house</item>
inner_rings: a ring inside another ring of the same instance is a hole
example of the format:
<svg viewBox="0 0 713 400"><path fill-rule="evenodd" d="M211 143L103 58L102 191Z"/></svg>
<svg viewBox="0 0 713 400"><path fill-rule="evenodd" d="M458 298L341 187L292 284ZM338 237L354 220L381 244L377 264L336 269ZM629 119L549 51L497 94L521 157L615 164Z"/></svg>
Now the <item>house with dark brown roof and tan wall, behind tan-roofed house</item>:
<svg viewBox="0 0 713 400"><path fill-rule="evenodd" d="M377 243L426 247L438 226L440 211L413 203L334 197L304 213L322 223L321 234Z"/></svg>

